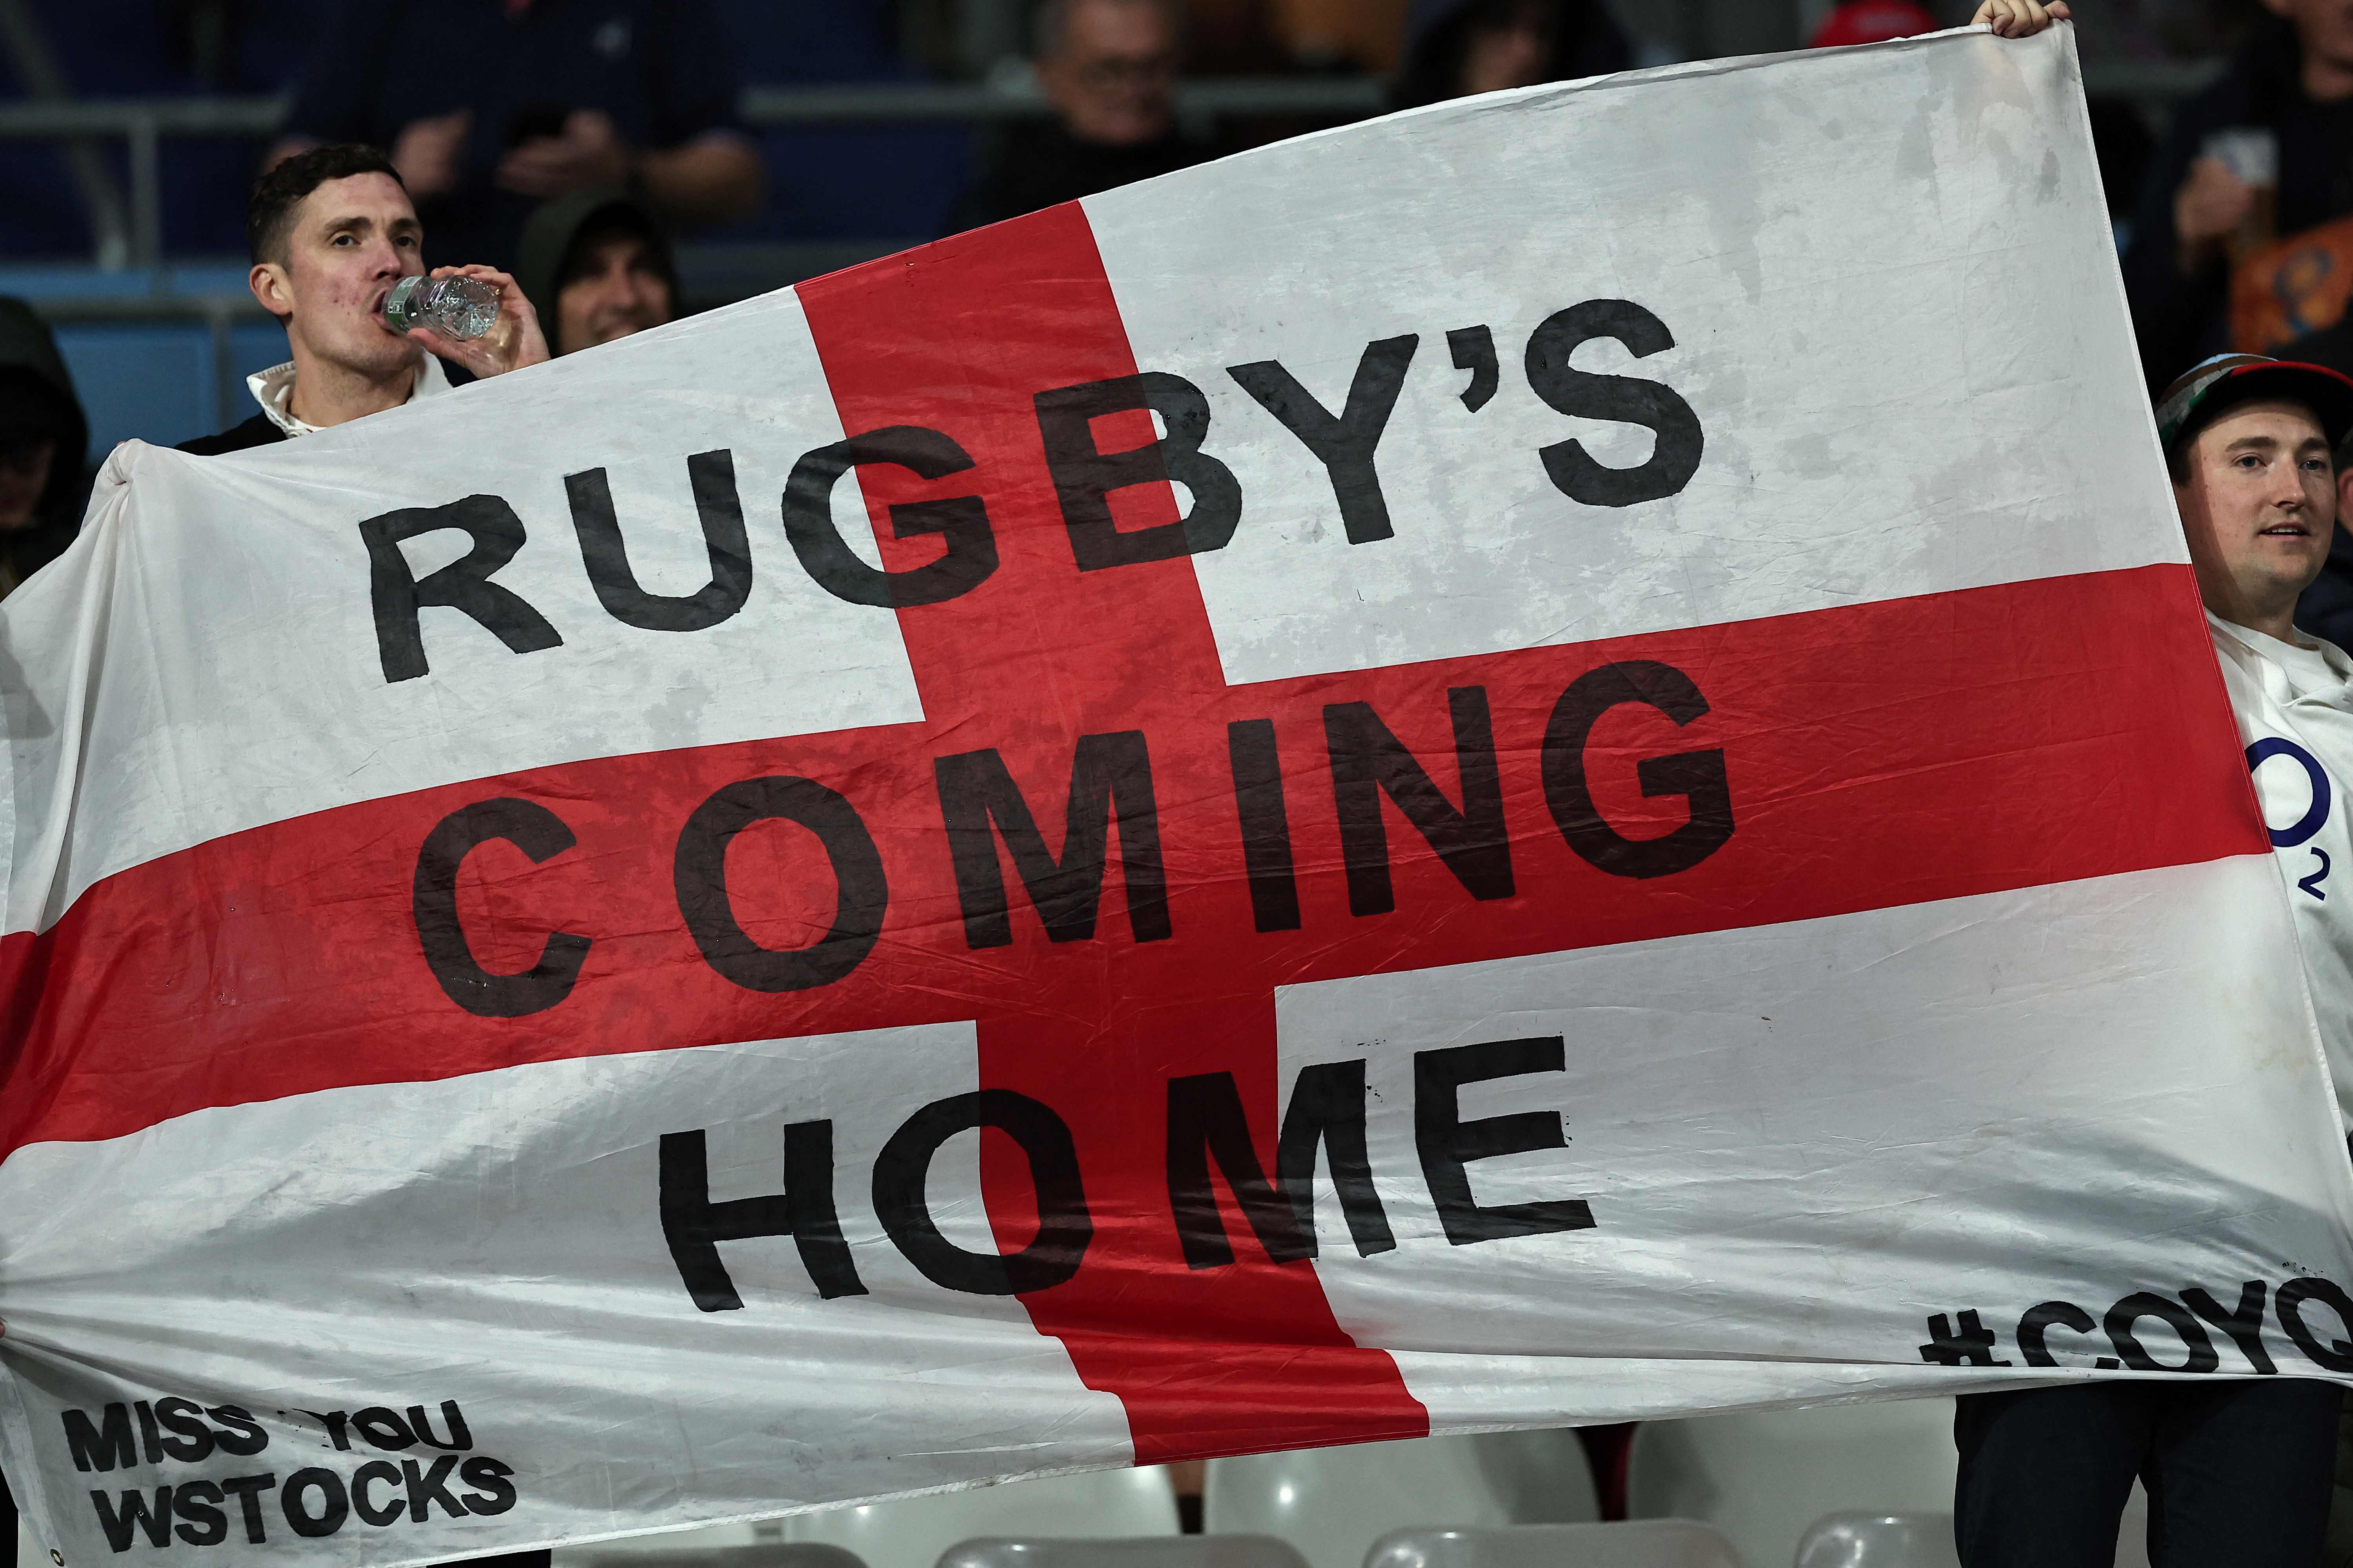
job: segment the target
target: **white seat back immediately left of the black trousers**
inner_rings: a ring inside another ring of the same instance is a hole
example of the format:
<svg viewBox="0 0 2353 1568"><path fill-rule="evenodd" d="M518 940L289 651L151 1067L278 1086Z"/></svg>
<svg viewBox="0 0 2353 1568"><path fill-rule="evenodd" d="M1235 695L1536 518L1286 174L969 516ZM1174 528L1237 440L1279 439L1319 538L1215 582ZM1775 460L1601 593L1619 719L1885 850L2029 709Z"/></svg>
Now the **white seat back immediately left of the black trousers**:
<svg viewBox="0 0 2353 1568"><path fill-rule="evenodd" d="M1704 1519L1774 1568L1824 1514L1951 1514L1958 1467L1951 1399L1654 1420L1633 1436L1626 1512Z"/></svg>

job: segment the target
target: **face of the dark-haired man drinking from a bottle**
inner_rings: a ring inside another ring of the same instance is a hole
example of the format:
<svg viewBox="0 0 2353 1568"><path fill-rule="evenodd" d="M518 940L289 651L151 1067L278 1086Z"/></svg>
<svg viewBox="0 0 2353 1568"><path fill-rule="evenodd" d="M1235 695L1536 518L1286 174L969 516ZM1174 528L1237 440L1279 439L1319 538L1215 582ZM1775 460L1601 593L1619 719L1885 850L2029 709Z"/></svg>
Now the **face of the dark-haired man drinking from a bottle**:
<svg viewBox="0 0 2353 1568"><path fill-rule="evenodd" d="M424 228L388 174L329 179L294 209L285 259L254 266L254 296L311 355L369 381L414 367L424 348L384 324L384 296L424 273Z"/></svg>

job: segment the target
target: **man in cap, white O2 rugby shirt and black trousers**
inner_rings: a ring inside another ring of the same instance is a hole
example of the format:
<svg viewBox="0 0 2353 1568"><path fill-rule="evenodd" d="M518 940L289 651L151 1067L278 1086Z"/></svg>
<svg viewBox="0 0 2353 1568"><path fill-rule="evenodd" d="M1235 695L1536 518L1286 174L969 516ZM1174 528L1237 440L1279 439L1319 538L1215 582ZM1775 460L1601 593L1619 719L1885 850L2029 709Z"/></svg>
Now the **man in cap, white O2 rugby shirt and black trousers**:
<svg viewBox="0 0 2353 1568"><path fill-rule="evenodd" d="M2238 715L2297 945L2353 1126L2353 658L2294 628L2337 529L2353 381L2221 355L2158 402L2198 597ZM2134 1476L2155 1568L2318 1563L2339 1389L2299 1378L2078 1382L1960 1399L1953 1533L1967 1568L2092 1568Z"/></svg>

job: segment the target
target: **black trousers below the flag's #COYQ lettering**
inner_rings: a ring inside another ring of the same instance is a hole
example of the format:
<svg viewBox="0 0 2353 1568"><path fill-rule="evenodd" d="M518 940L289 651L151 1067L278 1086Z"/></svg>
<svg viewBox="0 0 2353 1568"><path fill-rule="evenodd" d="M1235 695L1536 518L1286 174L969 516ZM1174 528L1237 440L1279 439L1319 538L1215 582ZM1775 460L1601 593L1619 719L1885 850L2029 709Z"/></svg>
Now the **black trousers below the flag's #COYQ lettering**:
<svg viewBox="0 0 2353 1568"><path fill-rule="evenodd" d="M2132 1479L2151 1568L2308 1568L2337 1474L2332 1382L2078 1382L1965 1394L1962 1568L2113 1568Z"/></svg>

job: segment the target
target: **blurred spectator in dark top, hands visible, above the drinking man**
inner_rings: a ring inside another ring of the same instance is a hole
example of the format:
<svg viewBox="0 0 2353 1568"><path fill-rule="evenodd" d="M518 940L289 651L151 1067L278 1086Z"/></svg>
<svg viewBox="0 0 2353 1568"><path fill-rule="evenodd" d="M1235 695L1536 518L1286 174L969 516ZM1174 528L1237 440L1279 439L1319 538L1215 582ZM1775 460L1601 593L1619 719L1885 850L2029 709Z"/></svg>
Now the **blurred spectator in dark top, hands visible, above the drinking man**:
<svg viewBox="0 0 2353 1568"><path fill-rule="evenodd" d="M508 266L536 202L628 186L675 223L760 205L708 0L344 0L271 162L386 146L442 256Z"/></svg>

